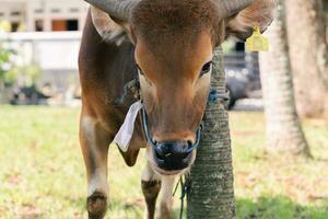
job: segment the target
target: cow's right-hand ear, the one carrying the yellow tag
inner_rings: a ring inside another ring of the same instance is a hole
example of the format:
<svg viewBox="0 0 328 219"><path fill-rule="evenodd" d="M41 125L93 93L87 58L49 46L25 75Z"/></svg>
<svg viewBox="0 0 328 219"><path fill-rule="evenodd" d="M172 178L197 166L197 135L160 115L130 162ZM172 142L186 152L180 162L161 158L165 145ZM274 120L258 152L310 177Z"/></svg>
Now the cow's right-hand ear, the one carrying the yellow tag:
<svg viewBox="0 0 328 219"><path fill-rule="evenodd" d="M243 41L259 26L265 32L271 24L277 8L277 0L255 0L249 7L226 20L226 35L234 35Z"/></svg>

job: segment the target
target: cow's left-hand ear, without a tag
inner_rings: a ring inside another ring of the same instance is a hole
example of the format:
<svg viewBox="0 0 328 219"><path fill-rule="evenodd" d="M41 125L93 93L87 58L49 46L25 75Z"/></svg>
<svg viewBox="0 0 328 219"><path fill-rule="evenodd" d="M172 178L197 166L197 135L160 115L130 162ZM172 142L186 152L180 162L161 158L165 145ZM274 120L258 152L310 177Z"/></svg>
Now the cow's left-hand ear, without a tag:
<svg viewBox="0 0 328 219"><path fill-rule="evenodd" d="M131 30L128 23L116 21L106 12L95 7L91 7L91 18L93 25L105 42L121 44L127 37L131 38Z"/></svg>

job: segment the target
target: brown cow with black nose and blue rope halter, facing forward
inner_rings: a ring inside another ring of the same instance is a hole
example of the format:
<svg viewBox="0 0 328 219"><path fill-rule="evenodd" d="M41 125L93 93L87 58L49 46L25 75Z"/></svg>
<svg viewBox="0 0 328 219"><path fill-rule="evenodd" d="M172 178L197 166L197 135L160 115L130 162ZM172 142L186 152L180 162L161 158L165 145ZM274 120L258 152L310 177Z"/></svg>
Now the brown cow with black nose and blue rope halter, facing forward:
<svg viewBox="0 0 328 219"><path fill-rule="evenodd" d="M124 88L139 78L143 116L136 120L128 150L120 152L132 166L139 149L147 149L148 164L141 180L145 218L154 218L161 186L159 217L169 218L174 180L196 157L213 49L229 34L245 38L256 25L266 30L276 2L86 1L94 7L87 14L79 66L89 217L103 218L106 212L108 147L137 101L131 93L121 99Z"/></svg>

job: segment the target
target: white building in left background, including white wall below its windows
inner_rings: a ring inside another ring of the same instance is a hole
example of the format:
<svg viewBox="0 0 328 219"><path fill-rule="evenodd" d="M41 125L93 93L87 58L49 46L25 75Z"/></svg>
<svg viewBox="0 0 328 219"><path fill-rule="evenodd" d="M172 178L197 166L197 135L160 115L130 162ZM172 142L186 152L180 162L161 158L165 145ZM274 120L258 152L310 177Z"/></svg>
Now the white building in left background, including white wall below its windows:
<svg viewBox="0 0 328 219"><path fill-rule="evenodd" d="M10 39L22 69L40 68L38 88L51 84L66 93L79 84L78 54L87 9L83 0L0 0L0 23L8 21L12 32L20 30L0 33L0 42Z"/></svg>

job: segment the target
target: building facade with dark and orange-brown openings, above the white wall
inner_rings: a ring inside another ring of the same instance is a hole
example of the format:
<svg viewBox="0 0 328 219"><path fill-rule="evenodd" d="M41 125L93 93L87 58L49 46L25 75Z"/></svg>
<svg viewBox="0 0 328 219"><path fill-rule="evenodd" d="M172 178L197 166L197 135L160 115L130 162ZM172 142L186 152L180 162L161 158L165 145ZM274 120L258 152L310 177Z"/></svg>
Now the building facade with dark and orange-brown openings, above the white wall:
<svg viewBox="0 0 328 219"><path fill-rule="evenodd" d="M87 12L83 0L0 0L0 21L12 32L81 31Z"/></svg>

